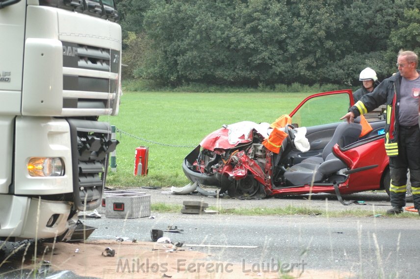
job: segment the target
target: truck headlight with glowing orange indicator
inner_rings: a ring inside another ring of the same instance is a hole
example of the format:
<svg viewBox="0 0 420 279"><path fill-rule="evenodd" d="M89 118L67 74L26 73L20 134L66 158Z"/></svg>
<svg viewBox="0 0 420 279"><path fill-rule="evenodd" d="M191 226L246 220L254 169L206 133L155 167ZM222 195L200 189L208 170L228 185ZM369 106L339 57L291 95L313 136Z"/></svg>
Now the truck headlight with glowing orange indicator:
<svg viewBox="0 0 420 279"><path fill-rule="evenodd" d="M64 162L61 158L32 157L27 163L31 177L60 177L64 175Z"/></svg>

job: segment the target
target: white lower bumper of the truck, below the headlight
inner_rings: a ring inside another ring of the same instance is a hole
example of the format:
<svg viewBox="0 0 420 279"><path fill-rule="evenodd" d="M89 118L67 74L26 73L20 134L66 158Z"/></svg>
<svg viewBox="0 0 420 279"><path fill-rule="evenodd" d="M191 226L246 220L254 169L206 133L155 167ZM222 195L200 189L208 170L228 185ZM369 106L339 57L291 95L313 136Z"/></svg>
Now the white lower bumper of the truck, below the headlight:
<svg viewBox="0 0 420 279"><path fill-rule="evenodd" d="M52 238L67 230L70 203L0 195L0 237Z"/></svg>

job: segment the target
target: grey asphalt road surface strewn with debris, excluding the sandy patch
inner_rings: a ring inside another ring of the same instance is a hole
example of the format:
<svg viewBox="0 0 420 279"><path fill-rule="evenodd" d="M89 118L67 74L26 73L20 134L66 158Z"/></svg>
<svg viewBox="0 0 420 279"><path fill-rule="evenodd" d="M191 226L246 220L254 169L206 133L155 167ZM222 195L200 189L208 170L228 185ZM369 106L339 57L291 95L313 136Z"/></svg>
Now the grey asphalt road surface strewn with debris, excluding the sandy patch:
<svg viewBox="0 0 420 279"><path fill-rule="evenodd" d="M156 190L152 190L156 191ZM157 201L157 196L155 200ZM165 195L165 194L162 194ZM354 205L372 210L389 208L384 193L350 195L347 198L372 205ZM385 194L386 195L386 194ZM302 197L292 199L269 199L261 201L220 200L219 206L242 204L246 207L275 203L286 206L311 204L327 206L330 210L343 210L346 206L334 201L333 195L316 196L308 201ZM167 203L195 199L192 196L167 196ZM201 198L200 198L201 199ZM205 197L206 202L214 198ZM170 200L170 201L169 201ZM215 199L213 200L215 201ZM232 204L230 204L230 202ZM273 202L271 202L273 201ZM229 204L229 205L228 205ZM327 205L326 205L327 204ZM380 206L385 204L387 206ZM353 208L354 208L353 206ZM338 209L336 209L338 208ZM90 239L114 239L127 237L139 241L151 241L151 229L166 229L177 226L181 233L164 232L172 242L183 242L185 249L208 254L208 259L220 262L245 263L262 268L278 261L282 263L305 263L305 268L316 270L339 270L351 272L355 278L415 278L413 272L420 260L420 243L416 241L419 222L417 219L390 217L327 218L323 216L235 216L191 215L181 213L152 213L154 219L86 219L84 223L97 227ZM420 219L420 218L419 218ZM189 245L193 245L190 247ZM204 245L197 247L196 245ZM209 247L219 245L220 247ZM243 246L243 247L242 247ZM249 247L251 246L251 247ZM252 246L256 246L252 248ZM302 266L302 265L300 265Z"/></svg>

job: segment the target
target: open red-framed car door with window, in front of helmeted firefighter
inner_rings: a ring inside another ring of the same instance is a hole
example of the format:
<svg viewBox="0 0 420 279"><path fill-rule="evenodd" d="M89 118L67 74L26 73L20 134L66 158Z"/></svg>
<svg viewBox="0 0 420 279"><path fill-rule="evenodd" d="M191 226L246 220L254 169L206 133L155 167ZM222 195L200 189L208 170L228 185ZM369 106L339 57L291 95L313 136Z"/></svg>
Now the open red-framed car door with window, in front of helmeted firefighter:
<svg viewBox="0 0 420 279"><path fill-rule="evenodd" d="M308 152L294 149L290 152L293 164L308 157L322 156L337 126L342 122L348 108L354 104L350 89L317 93L307 97L289 114L292 124L306 127L306 138L310 143Z"/></svg>

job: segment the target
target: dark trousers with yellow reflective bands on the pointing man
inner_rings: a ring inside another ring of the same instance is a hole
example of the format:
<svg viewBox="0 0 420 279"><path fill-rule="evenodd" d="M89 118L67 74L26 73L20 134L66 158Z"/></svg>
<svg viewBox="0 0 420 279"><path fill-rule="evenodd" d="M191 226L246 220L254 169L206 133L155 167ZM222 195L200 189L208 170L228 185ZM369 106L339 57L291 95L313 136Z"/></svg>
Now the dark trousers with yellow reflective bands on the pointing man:
<svg viewBox="0 0 420 279"><path fill-rule="evenodd" d="M407 170L410 170L410 182L413 192L414 207L420 212L419 125L411 127L400 126L398 128L398 155L390 157L390 197L392 206L405 206Z"/></svg>

